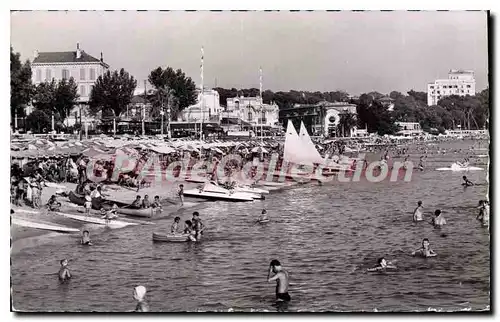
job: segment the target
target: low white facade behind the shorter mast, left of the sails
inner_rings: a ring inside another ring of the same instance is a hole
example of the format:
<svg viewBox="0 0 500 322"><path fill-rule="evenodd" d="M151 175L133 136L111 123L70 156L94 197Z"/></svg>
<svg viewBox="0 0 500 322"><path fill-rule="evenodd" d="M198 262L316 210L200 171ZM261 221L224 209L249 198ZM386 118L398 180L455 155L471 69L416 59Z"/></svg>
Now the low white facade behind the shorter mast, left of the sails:
<svg viewBox="0 0 500 322"><path fill-rule="evenodd" d="M278 105L264 104L260 97L232 97L226 105L223 117L238 118L252 125L276 126L279 122Z"/></svg>

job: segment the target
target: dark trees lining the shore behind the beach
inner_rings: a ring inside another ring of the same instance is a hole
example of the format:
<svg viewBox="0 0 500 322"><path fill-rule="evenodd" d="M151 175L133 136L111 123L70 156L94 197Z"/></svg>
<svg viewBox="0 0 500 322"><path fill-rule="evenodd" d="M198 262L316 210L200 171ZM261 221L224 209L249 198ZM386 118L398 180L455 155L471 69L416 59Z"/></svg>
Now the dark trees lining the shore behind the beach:
<svg viewBox="0 0 500 322"><path fill-rule="evenodd" d="M20 60L20 54L11 47L11 119L16 115L24 117L25 107L32 105L33 113L26 118L29 130L42 132L51 128L54 117L56 130L64 129L64 121L78 104L77 84L73 78L51 80L38 85L31 81L31 65ZM177 119L180 113L197 101L196 85L181 69L158 67L148 76L153 86L152 93L143 97L151 104L149 114L154 120L166 115ZM119 120L132 101L137 80L123 68L107 71L100 75L92 87L89 111L102 120ZM219 93L220 105L226 106L228 98L257 97L257 88L225 89L214 88ZM387 97L393 104L389 109ZM475 96L452 95L427 106L427 93L411 90L406 94L397 91L389 95L369 92L352 97L346 91L310 92L290 90L287 92L265 90L262 92L265 104L277 104L279 109L293 108L296 104L318 104L320 102L347 102L356 105L357 115L343 113L338 130L349 133L354 126L367 128L370 133L394 134L399 128L396 122L419 122L425 131L444 132L446 129L483 129L488 126L490 107L489 89ZM163 112L163 113L162 113Z"/></svg>

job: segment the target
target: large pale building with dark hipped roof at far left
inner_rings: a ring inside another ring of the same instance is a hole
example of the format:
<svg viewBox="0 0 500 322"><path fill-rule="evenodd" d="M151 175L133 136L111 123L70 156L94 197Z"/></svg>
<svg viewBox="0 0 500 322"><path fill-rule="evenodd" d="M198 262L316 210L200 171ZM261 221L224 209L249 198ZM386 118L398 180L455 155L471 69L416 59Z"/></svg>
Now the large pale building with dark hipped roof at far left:
<svg viewBox="0 0 500 322"><path fill-rule="evenodd" d="M77 84L78 106L76 106L66 119L66 124L71 126L76 123L79 112L82 112L82 122L86 119L86 109L90 98L90 92L97 78L109 69L109 65L101 58L97 59L80 49L76 44L76 51L63 52L38 52L35 50L34 59L31 63L32 81L34 85L42 82L56 82L61 79L73 77ZM32 108L26 113L30 114ZM91 121L90 119L88 121Z"/></svg>

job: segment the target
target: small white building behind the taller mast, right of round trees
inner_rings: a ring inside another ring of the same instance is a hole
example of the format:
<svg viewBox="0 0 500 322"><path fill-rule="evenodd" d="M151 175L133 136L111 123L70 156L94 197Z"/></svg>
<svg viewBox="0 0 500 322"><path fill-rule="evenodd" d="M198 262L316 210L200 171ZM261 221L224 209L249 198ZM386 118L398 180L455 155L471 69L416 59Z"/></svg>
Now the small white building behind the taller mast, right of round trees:
<svg viewBox="0 0 500 322"><path fill-rule="evenodd" d="M181 118L185 122L219 122L223 108L220 106L219 93L213 89L198 90L197 103L184 109Z"/></svg>

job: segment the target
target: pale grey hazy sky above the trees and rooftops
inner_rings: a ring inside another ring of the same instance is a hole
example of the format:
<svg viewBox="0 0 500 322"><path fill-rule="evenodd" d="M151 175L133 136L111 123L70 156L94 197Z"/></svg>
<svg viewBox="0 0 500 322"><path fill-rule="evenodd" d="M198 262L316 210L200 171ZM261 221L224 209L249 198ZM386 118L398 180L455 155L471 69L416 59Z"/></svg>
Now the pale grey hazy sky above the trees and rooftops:
<svg viewBox="0 0 500 322"><path fill-rule="evenodd" d="M23 60L77 43L142 88L158 66L199 85L202 46L205 87L259 88L259 67L273 91L426 91L450 69L473 70L478 92L488 86L487 15L479 11L11 14L11 45Z"/></svg>

